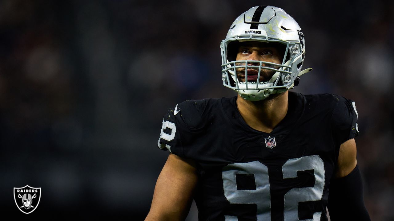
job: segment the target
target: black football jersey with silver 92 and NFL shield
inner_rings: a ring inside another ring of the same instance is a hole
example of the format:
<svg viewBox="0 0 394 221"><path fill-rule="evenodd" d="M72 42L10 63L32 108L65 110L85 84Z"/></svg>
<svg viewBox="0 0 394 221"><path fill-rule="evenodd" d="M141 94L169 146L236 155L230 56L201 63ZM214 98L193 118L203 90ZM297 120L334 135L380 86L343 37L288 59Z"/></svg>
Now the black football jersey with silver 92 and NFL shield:
<svg viewBox="0 0 394 221"><path fill-rule="evenodd" d="M236 99L184 101L164 116L158 146L197 162L199 220L327 220L339 147L358 134L354 102L289 92L285 118L264 133Z"/></svg>

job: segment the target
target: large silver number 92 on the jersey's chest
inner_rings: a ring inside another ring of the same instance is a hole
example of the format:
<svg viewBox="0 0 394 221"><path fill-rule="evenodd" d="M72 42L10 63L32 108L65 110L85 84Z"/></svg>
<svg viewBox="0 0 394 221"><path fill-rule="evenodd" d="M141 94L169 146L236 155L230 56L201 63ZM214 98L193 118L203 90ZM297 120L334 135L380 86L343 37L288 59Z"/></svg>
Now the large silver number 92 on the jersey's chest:
<svg viewBox="0 0 394 221"><path fill-rule="evenodd" d="M284 221L298 219L298 203L318 201L322 199L325 183L324 163L318 155L287 160L282 166L283 179L297 177L298 171L314 170L313 187L293 188L284 195ZM254 175L256 190L238 190L236 174ZM256 220L271 220L271 201L268 168L259 161L234 163L223 167L223 190L227 200L232 204L256 204ZM313 219L303 221L319 221L322 212L313 214ZM225 221L236 221L236 216L225 216Z"/></svg>

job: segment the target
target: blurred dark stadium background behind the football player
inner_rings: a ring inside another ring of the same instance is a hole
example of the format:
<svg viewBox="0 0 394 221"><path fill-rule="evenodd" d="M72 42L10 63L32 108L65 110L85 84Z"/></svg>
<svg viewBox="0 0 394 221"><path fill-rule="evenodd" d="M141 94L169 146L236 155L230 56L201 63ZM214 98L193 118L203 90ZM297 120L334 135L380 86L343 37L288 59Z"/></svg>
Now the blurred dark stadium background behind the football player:
<svg viewBox="0 0 394 221"><path fill-rule="evenodd" d="M374 221L394 219L394 4L376 1L0 1L0 211L12 217L143 220L168 152L166 110L234 96L219 44L258 5L303 29L295 91L356 101L357 158ZM13 188L41 187L32 214ZM189 221L197 220L191 209Z"/></svg>

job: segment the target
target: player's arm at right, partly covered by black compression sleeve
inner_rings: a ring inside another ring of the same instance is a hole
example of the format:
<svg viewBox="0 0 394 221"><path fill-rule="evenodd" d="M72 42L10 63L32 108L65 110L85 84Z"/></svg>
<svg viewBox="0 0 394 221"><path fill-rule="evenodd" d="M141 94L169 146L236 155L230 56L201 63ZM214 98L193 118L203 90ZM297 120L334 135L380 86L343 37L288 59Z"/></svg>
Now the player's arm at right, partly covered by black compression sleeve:
<svg viewBox="0 0 394 221"><path fill-rule="evenodd" d="M371 220L364 205L362 179L356 155L354 138L340 145L335 179L329 187L328 210L331 221Z"/></svg>

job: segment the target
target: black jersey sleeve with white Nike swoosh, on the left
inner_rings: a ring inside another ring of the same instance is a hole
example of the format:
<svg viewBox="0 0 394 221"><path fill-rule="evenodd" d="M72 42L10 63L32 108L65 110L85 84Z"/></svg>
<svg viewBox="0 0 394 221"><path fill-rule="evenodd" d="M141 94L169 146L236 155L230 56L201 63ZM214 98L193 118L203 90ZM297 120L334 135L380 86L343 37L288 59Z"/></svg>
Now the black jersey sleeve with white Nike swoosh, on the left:
<svg viewBox="0 0 394 221"><path fill-rule="evenodd" d="M184 157L184 145L203 122L206 101L188 100L170 108L164 115L158 147Z"/></svg>

